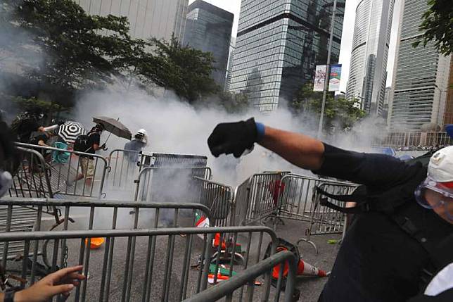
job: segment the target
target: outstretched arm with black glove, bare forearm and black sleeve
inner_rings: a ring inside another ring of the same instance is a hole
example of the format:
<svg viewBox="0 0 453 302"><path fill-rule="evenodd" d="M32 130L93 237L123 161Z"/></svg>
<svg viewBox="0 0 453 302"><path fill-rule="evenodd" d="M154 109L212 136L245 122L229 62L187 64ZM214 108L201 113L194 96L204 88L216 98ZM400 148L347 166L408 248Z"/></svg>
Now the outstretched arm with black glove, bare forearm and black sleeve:
<svg viewBox="0 0 453 302"><path fill-rule="evenodd" d="M253 119L219 124L208 139L214 156L233 153L239 157L255 142L300 168L358 184L387 187L404 182L418 170L391 156L346 151L304 134L265 127Z"/></svg>

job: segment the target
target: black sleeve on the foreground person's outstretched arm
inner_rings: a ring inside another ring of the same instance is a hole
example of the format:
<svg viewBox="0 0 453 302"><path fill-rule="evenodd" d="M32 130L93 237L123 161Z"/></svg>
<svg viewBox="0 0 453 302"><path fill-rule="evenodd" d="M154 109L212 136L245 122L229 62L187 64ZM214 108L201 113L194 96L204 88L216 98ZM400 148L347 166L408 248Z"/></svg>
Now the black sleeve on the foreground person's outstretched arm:
<svg viewBox="0 0 453 302"><path fill-rule="evenodd" d="M409 165L384 154L346 151L324 144L324 163L315 174L374 187L392 187L406 182L421 165Z"/></svg>

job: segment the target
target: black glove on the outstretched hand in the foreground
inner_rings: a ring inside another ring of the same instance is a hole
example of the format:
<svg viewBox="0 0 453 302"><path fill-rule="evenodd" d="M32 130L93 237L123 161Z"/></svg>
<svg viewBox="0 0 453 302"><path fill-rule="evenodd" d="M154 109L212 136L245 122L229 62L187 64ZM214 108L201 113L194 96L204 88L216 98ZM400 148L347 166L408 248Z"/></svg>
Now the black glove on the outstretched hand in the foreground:
<svg viewBox="0 0 453 302"><path fill-rule="evenodd" d="M208 138L208 146L213 156L231 154L240 157L245 149L252 149L257 140L255 119L241 122L224 122L217 125Z"/></svg>

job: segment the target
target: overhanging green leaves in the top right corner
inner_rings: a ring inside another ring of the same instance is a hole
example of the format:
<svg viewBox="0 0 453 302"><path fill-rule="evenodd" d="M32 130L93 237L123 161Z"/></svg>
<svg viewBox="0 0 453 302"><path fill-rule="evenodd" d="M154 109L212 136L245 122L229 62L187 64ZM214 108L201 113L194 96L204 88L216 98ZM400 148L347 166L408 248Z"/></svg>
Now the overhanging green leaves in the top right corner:
<svg viewBox="0 0 453 302"><path fill-rule="evenodd" d="M426 1L426 0L425 0ZM451 0L429 0L428 11L423 14L420 30L424 32L420 41L413 46L433 41L441 54L453 54L453 5Z"/></svg>

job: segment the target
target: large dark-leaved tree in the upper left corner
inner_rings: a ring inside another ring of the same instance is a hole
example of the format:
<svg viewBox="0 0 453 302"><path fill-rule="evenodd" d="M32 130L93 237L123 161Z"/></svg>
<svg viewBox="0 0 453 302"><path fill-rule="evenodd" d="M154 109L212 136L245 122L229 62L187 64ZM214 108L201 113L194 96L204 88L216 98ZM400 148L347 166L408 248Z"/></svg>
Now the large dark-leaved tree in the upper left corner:
<svg viewBox="0 0 453 302"><path fill-rule="evenodd" d="M24 0L15 21L42 54L30 77L64 89L122 77L143 58L147 45L129 36L126 17L88 15L72 0Z"/></svg>

